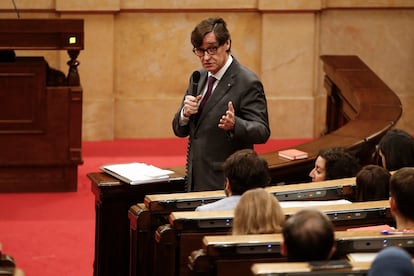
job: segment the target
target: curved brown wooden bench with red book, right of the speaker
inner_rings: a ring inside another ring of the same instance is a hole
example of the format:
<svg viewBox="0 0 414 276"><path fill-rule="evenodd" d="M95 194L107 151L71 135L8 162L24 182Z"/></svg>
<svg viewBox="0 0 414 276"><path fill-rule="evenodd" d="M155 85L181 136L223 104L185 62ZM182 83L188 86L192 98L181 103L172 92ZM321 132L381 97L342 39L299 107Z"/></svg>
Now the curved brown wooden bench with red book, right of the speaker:
<svg viewBox="0 0 414 276"><path fill-rule="evenodd" d="M371 156L381 137L402 114L397 95L357 56L321 56L328 91L325 135L296 146L309 158L287 160L277 152L262 154L269 163L273 183L309 181L320 149L345 147L362 165Z"/></svg>

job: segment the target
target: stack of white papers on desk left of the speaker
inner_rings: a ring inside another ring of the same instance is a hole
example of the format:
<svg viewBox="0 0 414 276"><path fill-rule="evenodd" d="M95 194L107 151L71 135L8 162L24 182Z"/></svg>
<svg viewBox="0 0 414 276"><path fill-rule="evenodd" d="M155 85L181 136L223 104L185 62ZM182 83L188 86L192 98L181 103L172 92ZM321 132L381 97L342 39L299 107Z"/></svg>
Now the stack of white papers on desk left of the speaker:
<svg viewBox="0 0 414 276"><path fill-rule="evenodd" d="M163 181L174 173L171 170L138 162L103 165L100 169L131 185Z"/></svg>

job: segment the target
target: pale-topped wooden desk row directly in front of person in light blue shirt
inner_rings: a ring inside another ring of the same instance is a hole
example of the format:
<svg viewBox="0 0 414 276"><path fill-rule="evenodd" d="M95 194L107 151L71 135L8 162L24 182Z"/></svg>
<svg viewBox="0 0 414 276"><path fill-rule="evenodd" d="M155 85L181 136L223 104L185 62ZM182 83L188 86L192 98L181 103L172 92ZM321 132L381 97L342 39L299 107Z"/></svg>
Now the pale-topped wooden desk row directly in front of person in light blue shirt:
<svg viewBox="0 0 414 276"><path fill-rule="evenodd" d="M352 199L355 178L270 186L266 189L280 201ZM146 195L145 208L132 205L130 219L130 275L152 275L154 233L168 223L171 212L193 211L197 206L223 198L224 191Z"/></svg>

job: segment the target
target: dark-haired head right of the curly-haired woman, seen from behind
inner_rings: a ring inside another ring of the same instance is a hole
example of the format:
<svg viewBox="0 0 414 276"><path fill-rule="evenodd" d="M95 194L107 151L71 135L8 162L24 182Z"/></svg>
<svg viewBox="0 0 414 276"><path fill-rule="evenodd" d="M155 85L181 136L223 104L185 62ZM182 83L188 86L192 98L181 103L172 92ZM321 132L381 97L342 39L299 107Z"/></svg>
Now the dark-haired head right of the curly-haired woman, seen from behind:
<svg viewBox="0 0 414 276"><path fill-rule="evenodd" d="M356 175L356 201L389 198L391 174L379 165L366 165Z"/></svg>

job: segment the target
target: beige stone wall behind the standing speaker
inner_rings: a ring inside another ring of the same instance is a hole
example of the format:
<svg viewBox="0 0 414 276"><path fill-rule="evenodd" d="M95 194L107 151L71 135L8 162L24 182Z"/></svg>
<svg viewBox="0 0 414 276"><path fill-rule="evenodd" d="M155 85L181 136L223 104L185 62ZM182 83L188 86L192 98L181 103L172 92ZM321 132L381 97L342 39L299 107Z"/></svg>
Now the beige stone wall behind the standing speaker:
<svg viewBox="0 0 414 276"><path fill-rule="evenodd" d="M222 16L232 51L262 79L272 138L315 137L324 128L320 55L353 54L400 97L398 127L414 133L414 3L411 0L18 0L21 18L83 18L79 55L83 139L173 137L171 119L200 66L189 35ZM12 1L0 18L15 18ZM62 52L45 55L67 71Z"/></svg>

